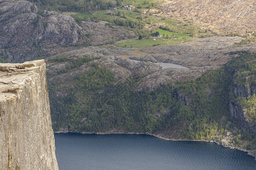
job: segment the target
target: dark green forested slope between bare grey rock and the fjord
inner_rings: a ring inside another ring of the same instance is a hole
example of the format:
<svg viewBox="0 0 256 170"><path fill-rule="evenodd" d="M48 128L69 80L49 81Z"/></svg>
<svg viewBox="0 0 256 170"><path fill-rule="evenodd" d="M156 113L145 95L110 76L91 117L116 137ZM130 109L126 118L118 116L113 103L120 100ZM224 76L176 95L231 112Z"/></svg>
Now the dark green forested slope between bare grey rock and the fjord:
<svg viewBox="0 0 256 170"><path fill-rule="evenodd" d="M254 58L254 53L241 53L196 80L153 91L135 90L141 78L131 77L117 84L108 69L94 63L88 72L69 80L72 86L59 88L59 82L49 85L53 129L67 126L71 131L88 133L113 129L138 133L171 131L177 138L211 139L217 131L226 131L225 122L220 120L229 117L233 77L246 67L246 61ZM62 92L67 95L56 96ZM248 101L251 100L255 101ZM236 139L239 143L240 138Z"/></svg>

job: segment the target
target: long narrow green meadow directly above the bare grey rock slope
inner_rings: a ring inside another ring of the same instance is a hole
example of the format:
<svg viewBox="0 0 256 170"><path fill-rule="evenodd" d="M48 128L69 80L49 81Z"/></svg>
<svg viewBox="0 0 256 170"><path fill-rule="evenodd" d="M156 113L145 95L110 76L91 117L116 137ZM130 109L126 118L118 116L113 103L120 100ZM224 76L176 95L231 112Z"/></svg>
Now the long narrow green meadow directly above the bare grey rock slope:
<svg viewBox="0 0 256 170"><path fill-rule="evenodd" d="M156 40L152 40L155 38ZM189 42L192 41L191 39L186 39L185 37L182 39L176 39L176 40L166 40L166 39L158 39L156 37L151 37L151 39L129 39L129 40L122 40L119 41L118 44L115 44L117 46L122 46L122 47L137 47L137 48L146 48L148 46L156 46L156 45L172 45L172 44L179 44L183 42Z"/></svg>

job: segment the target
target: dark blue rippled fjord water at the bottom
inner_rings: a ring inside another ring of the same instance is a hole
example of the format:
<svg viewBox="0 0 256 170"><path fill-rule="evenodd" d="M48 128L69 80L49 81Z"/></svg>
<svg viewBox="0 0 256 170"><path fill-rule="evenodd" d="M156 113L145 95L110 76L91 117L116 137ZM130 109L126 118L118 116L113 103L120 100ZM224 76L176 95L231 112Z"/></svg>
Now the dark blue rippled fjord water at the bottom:
<svg viewBox="0 0 256 170"><path fill-rule="evenodd" d="M256 169L253 156L214 143L137 134L55 134L62 169Z"/></svg>

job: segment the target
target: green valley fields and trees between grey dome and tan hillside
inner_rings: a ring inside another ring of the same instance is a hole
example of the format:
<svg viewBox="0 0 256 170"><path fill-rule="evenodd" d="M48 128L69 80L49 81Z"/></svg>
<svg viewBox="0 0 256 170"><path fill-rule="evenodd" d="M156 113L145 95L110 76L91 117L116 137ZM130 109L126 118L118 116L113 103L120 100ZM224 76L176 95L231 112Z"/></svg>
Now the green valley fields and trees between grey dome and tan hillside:
<svg viewBox="0 0 256 170"><path fill-rule="evenodd" d="M136 41L119 42L117 44L118 46L123 47L126 46L130 48L131 46L133 46L142 48L146 46L178 44L181 42L192 41L193 36L205 37L211 35L209 32L202 32L198 28L192 27L188 24L177 22L175 20L156 18L150 15L142 15L141 8L158 8L158 6L163 3L163 1L31 0L31 2L35 2L39 6L39 8L60 11L63 12L63 14L70 15L76 20L78 24L81 24L82 20L92 20L93 22L104 21L107 22L106 25L109 25L109 27L117 25L134 31L136 37L142 36L142 38L152 39L152 37L150 36L154 32L158 31L160 32L160 35L164 35L164 39L166 39L164 40L164 42L162 39L156 40L158 42L144 40L144 42L146 42L145 45L141 45L139 44L139 42ZM126 5L134 5L135 10L124 10L124 8L122 8L122 3ZM108 10L109 7L117 7L118 9L110 11ZM34 22L36 22L36 20ZM154 23L153 27L152 23ZM129 38L133 37L134 36L130 36Z"/></svg>

